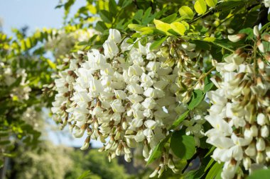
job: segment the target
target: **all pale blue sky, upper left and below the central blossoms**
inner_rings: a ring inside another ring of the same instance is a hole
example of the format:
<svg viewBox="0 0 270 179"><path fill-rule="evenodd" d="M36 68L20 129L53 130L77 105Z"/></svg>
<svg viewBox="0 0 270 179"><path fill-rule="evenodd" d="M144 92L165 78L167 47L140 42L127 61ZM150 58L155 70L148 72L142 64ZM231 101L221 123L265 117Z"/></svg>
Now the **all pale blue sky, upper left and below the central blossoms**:
<svg viewBox="0 0 270 179"><path fill-rule="evenodd" d="M84 0L77 0L71 8L71 14L85 4ZM11 28L23 28L28 25L28 35L38 28L60 28L63 25L64 10L55 9L58 0L0 0L0 18L4 33L12 36ZM51 122L53 123L53 122ZM67 131L67 130L66 130ZM48 137L55 144L81 146L85 137L72 139L69 132L49 130ZM92 142L93 147L102 146L100 142Z"/></svg>

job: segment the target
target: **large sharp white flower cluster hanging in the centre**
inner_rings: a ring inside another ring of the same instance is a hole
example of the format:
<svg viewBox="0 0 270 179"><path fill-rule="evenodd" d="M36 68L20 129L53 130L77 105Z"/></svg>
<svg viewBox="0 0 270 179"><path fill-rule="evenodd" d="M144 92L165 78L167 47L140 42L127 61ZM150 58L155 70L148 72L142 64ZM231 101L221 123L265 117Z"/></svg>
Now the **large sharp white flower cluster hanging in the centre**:
<svg viewBox="0 0 270 179"><path fill-rule="evenodd" d="M92 49L70 59L68 69L55 80L58 94L52 111L56 120L70 124L75 137L87 132L81 149L88 148L90 139L99 139L109 159L124 154L131 161L131 147L139 144L147 161L178 115L178 67L163 67L166 58L149 50L150 42L144 46L127 40L111 29L104 53Z"/></svg>

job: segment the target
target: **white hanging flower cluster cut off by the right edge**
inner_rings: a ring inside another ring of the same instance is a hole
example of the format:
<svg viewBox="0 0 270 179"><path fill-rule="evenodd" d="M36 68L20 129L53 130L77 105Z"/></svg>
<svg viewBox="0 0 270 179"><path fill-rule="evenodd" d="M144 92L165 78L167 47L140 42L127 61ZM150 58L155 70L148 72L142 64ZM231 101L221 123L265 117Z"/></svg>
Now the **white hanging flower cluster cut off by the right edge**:
<svg viewBox="0 0 270 179"><path fill-rule="evenodd" d="M262 52L257 27L254 35ZM205 119L213 128L205 134L207 142L216 147L212 158L225 163L222 178L234 178L242 166L249 173L266 168L270 161L270 67L256 58L248 64L246 57L237 50L225 62L213 61L221 76L212 78L217 90L208 93L212 106Z"/></svg>

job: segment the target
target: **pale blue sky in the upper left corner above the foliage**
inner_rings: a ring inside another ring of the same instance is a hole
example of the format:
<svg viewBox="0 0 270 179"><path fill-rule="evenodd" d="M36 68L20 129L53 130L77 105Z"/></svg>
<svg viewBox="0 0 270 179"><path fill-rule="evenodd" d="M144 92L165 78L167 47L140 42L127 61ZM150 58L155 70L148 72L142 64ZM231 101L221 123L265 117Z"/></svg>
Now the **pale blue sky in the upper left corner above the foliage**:
<svg viewBox="0 0 270 179"><path fill-rule="evenodd" d="M77 8L85 4L77 0L71 8L75 13ZM3 30L11 35L11 28L29 26L29 33L36 28L60 28L63 24L63 9L57 8L58 0L0 0L0 17L4 21Z"/></svg>

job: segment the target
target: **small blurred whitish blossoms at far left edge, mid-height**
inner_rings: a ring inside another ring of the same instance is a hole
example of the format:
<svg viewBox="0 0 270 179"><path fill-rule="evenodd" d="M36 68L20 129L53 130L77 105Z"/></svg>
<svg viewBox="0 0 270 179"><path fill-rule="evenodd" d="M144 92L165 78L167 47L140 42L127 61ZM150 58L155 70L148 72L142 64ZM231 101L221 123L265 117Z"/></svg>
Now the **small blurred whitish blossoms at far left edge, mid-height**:
<svg viewBox="0 0 270 179"><path fill-rule="evenodd" d="M26 70L19 68L16 71L13 71L9 65L4 64L3 62L0 63L0 68L1 85L12 86L13 83L19 81L16 86L11 88L11 98L13 98L13 100L28 100L31 88L28 86L28 81L26 81Z"/></svg>

